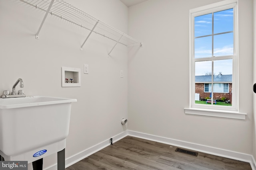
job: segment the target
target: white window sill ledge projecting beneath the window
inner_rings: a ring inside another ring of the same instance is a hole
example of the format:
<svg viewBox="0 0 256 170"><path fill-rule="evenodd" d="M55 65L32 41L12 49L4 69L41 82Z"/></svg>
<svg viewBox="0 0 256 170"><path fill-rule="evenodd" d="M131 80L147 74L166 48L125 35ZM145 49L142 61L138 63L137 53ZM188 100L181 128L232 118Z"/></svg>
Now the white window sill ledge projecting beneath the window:
<svg viewBox="0 0 256 170"><path fill-rule="evenodd" d="M213 109L199 109L199 108L184 108L185 114L203 115L212 117L225 117L231 119L245 120L247 113L239 113L238 111L213 110Z"/></svg>

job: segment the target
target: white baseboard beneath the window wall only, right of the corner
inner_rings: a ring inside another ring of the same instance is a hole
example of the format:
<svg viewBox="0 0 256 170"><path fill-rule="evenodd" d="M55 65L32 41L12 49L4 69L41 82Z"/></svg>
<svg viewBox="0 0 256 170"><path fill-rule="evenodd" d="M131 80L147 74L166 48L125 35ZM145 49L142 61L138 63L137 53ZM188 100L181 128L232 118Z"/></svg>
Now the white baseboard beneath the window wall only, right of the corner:
<svg viewBox="0 0 256 170"><path fill-rule="evenodd" d="M252 170L256 170L255 159L250 154L234 152L234 151L224 150L224 149L219 149L219 148L214 148L214 147L208 147L205 145L199 145L196 143L189 143L189 142L185 142L185 141L179 141L176 139L159 137L159 136L150 135L150 134L146 134L146 133L140 133L140 132L136 132L136 131L128 131L128 136L138 137L138 138L147 139L150 141L156 141L156 142L165 143L168 145L174 145L176 147L182 147L182 148L186 148L186 149L190 149L190 150L195 150L198 152L204 152L204 153L213 154L216 156L222 156L225 158L231 158L234 160L248 162L248 163L250 163Z"/></svg>

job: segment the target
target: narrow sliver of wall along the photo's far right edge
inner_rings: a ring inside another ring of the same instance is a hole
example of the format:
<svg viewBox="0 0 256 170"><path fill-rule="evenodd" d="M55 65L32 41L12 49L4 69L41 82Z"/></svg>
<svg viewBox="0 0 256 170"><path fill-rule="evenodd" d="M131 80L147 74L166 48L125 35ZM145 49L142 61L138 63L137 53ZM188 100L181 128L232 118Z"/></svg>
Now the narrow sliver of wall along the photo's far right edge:
<svg viewBox="0 0 256 170"><path fill-rule="evenodd" d="M253 84L256 83L256 0L253 0ZM254 113L254 116L253 116L253 156L254 156L254 159L256 158L256 94L253 95L253 113Z"/></svg>

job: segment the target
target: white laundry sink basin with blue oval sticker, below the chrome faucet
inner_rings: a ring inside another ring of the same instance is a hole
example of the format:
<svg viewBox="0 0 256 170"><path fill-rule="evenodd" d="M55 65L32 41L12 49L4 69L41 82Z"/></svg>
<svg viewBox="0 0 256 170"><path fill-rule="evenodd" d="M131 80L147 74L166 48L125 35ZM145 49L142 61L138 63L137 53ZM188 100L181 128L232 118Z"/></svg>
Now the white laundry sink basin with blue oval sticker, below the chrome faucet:
<svg viewBox="0 0 256 170"><path fill-rule="evenodd" d="M71 102L76 99L0 98L0 155L29 163L65 148Z"/></svg>

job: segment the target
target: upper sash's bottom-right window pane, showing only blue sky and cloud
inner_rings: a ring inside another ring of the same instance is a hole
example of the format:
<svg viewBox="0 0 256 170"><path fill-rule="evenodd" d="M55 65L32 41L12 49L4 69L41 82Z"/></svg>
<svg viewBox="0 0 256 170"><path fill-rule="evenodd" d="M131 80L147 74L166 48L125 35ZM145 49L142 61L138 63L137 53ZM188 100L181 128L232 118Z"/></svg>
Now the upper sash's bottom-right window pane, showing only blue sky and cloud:
<svg viewBox="0 0 256 170"><path fill-rule="evenodd" d="M213 56L233 55L234 36L233 33L214 35Z"/></svg>

